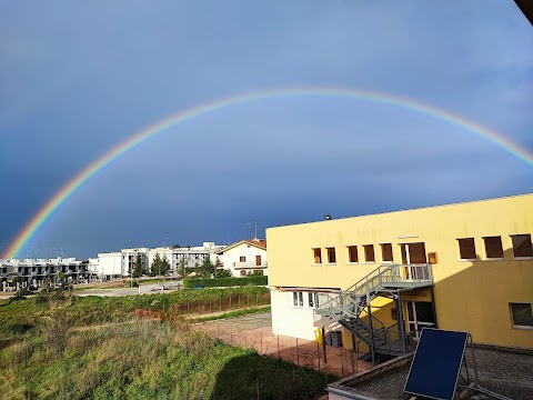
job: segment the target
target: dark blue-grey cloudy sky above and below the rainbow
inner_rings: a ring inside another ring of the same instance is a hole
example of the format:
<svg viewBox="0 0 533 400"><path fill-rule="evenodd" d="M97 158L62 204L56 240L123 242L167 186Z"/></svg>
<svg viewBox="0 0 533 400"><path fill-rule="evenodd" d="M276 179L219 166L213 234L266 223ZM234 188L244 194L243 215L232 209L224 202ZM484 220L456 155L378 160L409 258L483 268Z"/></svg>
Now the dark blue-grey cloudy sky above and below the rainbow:
<svg viewBox="0 0 533 400"><path fill-rule="evenodd" d="M0 251L69 179L183 109L344 87L459 113L533 151L533 28L513 1L0 3ZM533 169L408 110L292 98L172 128L89 180L30 257L531 192ZM22 251L23 256L26 250Z"/></svg>

